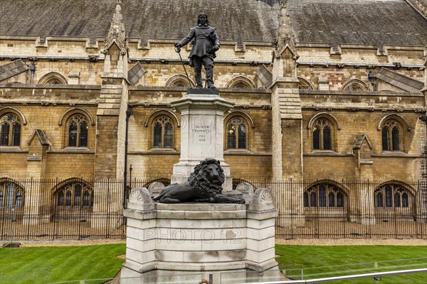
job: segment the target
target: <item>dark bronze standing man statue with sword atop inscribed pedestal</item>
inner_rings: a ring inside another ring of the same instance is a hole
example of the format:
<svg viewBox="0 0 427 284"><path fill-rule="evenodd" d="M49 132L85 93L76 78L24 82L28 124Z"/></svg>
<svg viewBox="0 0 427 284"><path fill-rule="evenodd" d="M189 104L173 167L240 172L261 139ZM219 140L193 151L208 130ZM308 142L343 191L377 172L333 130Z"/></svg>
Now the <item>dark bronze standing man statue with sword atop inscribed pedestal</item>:
<svg viewBox="0 0 427 284"><path fill-rule="evenodd" d="M215 52L219 49L219 38L216 34L216 28L209 26L208 16L201 13L197 17L197 26L191 28L190 33L179 43L175 43L176 52L191 40L194 40L193 48L189 55L190 66L194 67L196 75L196 88L201 89L201 65L206 71L206 83L208 88L216 89L214 85L214 58Z"/></svg>

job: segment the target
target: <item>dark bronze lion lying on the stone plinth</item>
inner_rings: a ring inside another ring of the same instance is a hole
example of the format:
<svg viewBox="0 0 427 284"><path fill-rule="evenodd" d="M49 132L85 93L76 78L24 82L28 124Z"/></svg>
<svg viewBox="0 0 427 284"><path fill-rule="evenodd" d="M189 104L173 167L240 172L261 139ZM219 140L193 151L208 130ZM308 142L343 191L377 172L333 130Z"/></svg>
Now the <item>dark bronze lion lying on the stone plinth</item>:
<svg viewBox="0 0 427 284"><path fill-rule="evenodd" d="M164 187L154 201L160 203L211 202L244 204L243 198L222 194L226 177L218 160L207 158L194 167L189 180Z"/></svg>

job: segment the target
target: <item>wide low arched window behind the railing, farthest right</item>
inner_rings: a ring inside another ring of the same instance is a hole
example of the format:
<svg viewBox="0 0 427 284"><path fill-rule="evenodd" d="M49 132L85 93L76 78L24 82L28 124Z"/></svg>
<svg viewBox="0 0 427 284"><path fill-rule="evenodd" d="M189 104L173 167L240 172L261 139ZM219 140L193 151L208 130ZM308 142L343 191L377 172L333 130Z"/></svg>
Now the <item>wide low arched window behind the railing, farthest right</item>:
<svg viewBox="0 0 427 284"><path fill-rule="evenodd" d="M412 197L411 192L396 184L383 185L374 192L376 208L408 208Z"/></svg>

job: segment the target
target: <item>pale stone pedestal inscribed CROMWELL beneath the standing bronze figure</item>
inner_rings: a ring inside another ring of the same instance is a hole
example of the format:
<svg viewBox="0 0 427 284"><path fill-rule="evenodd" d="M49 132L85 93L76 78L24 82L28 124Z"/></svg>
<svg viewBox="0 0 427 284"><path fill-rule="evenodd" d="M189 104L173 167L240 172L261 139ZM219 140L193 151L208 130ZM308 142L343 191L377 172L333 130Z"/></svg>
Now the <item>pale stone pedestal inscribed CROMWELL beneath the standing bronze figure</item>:
<svg viewBox="0 0 427 284"><path fill-rule="evenodd" d="M224 113L234 104L211 89L189 89L186 96L171 106L181 114L181 157L174 165L172 183L186 182L194 167L205 158L215 158L226 175L223 191L232 190L230 166L223 158Z"/></svg>

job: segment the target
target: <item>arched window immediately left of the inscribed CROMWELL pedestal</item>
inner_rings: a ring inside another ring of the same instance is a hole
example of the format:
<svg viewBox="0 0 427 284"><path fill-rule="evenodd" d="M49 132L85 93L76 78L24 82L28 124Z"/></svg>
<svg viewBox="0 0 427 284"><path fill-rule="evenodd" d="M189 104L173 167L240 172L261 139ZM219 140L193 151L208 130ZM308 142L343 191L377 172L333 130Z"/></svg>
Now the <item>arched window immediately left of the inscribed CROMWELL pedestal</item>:
<svg viewBox="0 0 427 284"><path fill-rule="evenodd" d="M158 116L154 119L153 126L153 147L173 148L174 146L174 126L169 116Z"/></svg>

